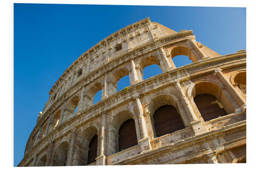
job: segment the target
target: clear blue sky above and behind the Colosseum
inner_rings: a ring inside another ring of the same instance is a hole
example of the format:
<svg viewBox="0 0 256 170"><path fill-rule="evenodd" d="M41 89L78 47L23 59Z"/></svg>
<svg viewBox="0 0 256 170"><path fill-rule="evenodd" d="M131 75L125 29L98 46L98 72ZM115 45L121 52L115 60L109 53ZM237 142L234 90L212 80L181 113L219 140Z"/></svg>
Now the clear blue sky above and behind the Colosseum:
<svg viewBox="0 0 256 170"><path fill-rule="evenodd" d="M146 17L193 30L221 55L246 49L245 8L14 4L14 166L63 71L106 36Z"/></svg>

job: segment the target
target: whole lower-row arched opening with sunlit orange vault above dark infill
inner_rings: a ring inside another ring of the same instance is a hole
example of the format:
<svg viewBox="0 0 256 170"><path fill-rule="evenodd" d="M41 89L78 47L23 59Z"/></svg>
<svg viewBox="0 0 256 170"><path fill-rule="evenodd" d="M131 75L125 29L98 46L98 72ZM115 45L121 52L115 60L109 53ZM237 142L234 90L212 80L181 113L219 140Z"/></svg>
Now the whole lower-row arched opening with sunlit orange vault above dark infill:
<svg viewBox="0 0 256 170"><path fill-rule="evenodd" d="M193 89L194 102L204 121L233 113L234 105L230 102L231 96L215 83L199 82Z"/></svg>

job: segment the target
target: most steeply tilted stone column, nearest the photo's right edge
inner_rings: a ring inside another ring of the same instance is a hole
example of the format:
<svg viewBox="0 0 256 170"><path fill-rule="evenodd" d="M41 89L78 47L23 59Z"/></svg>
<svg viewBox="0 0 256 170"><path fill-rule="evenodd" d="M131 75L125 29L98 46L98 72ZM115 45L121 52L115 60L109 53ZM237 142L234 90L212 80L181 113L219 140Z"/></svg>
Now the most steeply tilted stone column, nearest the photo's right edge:
<svg viewBox="0 0 256 170"><path fill-rule="evenodd" d="M239 92L232 86L232 84L226 79L224 76L222 69L218 68L214 70L214 75L217 75L220 81L226 86L229 93L232 95L234 100L239 104L240 107L246 105L245 100L243 97L239 94Z"/></svg>

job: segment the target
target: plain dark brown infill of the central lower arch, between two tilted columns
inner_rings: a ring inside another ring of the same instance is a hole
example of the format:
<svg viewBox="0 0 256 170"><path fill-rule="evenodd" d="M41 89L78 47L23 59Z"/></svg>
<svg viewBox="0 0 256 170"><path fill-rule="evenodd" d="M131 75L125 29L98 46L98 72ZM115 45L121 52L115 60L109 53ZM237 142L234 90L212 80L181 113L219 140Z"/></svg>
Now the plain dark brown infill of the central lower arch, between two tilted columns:
<svg viewBox="0 0 256 170"><path fill-rule="evenodd" d="M185 128L176 108L171 105L159 107L155 111L153 118L157 137Z"/></svg>

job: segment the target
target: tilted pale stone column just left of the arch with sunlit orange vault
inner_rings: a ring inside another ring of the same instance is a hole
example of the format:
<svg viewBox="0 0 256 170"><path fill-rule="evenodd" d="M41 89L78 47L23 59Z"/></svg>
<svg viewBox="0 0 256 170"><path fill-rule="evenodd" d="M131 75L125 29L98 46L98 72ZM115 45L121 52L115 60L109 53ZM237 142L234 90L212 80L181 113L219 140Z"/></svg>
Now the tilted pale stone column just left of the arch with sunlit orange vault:
<svg viewBox="0 0 256 170"><path fill-rule="evenodd" d="M192 107L190 106L188 100L187 100L187 97L186 97L186 95L185 95L185 93L184 93L184 91L183 91L183 89L182 89L182 87L180 85L180 81L176 81L175 82L175 87L176 87L176 89L178 91L178 94L179 94L179 96L181 98L181 101L183 102L183 105L185 107L186 112L190 115L189 116L189 118L191 119L190 122L196 121L197 117L196 117Z"/></svg>

